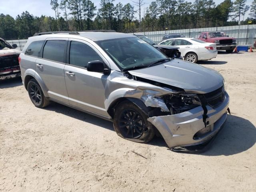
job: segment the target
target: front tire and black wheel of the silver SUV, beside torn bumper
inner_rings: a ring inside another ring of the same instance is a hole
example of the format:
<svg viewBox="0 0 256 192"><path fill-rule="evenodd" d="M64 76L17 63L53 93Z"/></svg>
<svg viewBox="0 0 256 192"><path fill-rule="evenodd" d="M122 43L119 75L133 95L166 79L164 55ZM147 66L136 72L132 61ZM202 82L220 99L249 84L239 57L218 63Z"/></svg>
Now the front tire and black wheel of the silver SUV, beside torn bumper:
<svg viewBox="0 0 256 192"><path fill-rule="evenodd" d="M147 143L155 135L154 126L147 121L147 118L148 116L134 103L121 102L115 108L114 129L118 136L124 139Z"/></svg>

